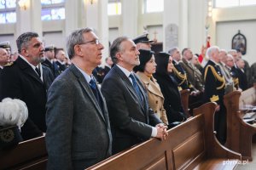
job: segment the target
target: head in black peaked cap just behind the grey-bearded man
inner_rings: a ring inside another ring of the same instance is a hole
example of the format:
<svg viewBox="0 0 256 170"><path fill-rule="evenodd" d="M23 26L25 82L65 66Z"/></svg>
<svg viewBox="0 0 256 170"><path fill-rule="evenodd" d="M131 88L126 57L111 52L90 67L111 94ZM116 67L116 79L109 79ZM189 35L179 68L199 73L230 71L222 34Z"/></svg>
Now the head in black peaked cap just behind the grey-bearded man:
<svg viewBox="0 0 256 170"><path fill-rule="evenodd" d="M151 50L151 43L154 42L153 40L149 40L148 33L138 36L132 40L139 49L148 49Z"/></svg>

